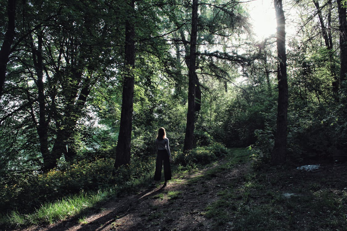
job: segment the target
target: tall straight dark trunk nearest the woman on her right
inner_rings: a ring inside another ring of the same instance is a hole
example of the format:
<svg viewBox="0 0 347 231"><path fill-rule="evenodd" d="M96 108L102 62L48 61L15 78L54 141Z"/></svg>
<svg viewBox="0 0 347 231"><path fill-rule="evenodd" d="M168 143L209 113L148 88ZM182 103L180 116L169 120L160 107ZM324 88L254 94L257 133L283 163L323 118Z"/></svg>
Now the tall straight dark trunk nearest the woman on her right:
<svg viewBox="0 0 347 231"><path fill-rule="evenodd" d="M183 151L193 149L194 122L195 122L195 85L196 85L196 38L197 38L197 9L198 2L193 0L192 5L192 32L189 53L189 84L188 84L188 112L186 135L184 138Z"/></svg>

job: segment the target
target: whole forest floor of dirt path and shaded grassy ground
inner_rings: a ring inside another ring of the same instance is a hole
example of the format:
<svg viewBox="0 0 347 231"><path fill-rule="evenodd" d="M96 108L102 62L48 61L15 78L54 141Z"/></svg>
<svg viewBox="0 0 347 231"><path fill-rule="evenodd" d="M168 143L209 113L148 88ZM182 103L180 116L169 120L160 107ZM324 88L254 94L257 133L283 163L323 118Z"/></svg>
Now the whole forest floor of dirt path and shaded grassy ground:
<svg viewBox="0 0 347 231"><path fill-rule="evenodd" d="M347 230L346 163L255 172L232 156L181 171L167 187L103 203L87 214L22 231Z"/></svg>

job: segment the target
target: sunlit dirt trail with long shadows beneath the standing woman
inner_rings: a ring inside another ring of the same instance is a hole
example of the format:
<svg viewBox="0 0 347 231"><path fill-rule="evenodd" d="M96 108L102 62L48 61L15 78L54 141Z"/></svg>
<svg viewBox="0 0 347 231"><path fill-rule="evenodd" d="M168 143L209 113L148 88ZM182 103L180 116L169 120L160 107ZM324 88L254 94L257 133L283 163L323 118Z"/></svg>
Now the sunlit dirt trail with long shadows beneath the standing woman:
<svg viewBox="0 0 347 231"><path fill-rule="evenodd" d="M23 231L132 231L132 230L211 230L203 213L217 199L217 193L234 183L242 183L249 163L237 163L227 169L212 167L176 175L167 187L140 189L104 203L102 208L84 217L71 218L48 226L32 226ZM229 167L229 166L228 166ZM211 171L212 170L212 171Z"/></svg>

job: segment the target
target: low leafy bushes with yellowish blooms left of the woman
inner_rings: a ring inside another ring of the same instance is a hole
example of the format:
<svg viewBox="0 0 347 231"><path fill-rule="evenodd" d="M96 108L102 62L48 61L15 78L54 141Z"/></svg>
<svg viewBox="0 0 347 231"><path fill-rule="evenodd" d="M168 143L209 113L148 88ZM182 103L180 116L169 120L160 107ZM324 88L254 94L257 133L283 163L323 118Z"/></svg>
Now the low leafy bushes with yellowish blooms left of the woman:
<svg viewBox="0 0 347 231"><path fill-rule="evenodd" d="M129 166L121 166L112 174L114 159L96 158L76 163L60 161L59 168L47 173L37 171L13 173L1 182L0 207L33 210L44 202L54 201L81 191L95 192L112 185L122 185L154 171L154 158L132 157ZM2 212L6 212L5 209Z"/></svg>

